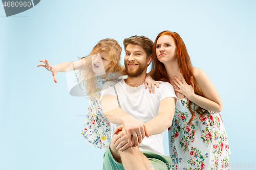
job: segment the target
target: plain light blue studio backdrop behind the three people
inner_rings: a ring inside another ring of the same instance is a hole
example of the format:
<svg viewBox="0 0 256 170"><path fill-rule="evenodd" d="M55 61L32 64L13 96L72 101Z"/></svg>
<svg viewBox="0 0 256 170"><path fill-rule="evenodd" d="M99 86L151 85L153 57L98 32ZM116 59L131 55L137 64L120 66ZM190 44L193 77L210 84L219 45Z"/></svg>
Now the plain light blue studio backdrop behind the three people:
<svg viewBox="0 0 256 170"><path fill-rule="evenodd" d="M101 39L123 47L124 38L154 41L164 30L180 34L221 96L230 164L255 165L255 7L253 0L58 0L10 17L0 7L0 169L101 169L104 152L81 136L87 99L69 94L65 73L55 84L39 60L75 61ZM164 147L168 155L166 132Z"/></svg>

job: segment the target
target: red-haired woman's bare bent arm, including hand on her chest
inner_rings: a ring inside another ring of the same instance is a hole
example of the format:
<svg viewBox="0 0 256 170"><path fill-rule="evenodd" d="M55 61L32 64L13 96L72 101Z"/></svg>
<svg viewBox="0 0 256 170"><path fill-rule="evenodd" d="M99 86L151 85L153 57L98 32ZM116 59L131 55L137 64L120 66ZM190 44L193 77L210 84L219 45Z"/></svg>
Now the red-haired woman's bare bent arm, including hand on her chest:
<svg viewBox="0 0 256 170"><path fill-rule="evenodd" d="M197 104L203 109L218 113L221 112L222 104L220 95L205 72L200 68L194 67L194 77L195 78L192 77L191 79L197 82L199 88L202 90L204 97L195 94L193 85L188 85L182 75L182 81L174 77L174 83L178 87L178 89L175 89L175 91L185 95L189 101Z"/></svg>

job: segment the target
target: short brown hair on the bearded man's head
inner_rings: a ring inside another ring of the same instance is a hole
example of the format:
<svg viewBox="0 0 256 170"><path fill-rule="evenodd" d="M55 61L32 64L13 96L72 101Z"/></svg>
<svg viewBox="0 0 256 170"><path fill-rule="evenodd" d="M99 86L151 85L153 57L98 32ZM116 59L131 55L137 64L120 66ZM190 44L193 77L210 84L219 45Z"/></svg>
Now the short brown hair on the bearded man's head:
<svg viewBox="0 0 256 170"><path fill-rule="evenodd" d="M146 52L147 57L152 55L152 48L153 48L154 42L145 36L135 35L130 38L125 38L123 40L124 50L126 50L126 46L128 44L139 45L140 47L142 47L143 50Z"/></svg>

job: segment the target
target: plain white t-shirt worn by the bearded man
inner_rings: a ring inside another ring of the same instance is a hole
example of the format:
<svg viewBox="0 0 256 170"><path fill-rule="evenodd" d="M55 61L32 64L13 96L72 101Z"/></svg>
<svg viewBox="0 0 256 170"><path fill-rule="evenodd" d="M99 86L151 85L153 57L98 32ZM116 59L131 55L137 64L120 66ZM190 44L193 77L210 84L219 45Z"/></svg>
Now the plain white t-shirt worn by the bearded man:
<svg viewBox="0 0 256 170"><path fill-rule="evenodd" d="M124 79L105 82L101 91L101 99L104 95L114 95L118 99L119 107L141 122L148 122L158 114L160 101L167 97L175 98L174 88L167 82L161 82L159 88L155 88L155 93L150 93L145 89L144 83L138 87L127 85ZM101 100L100 99L100 100ZM116 127L120 125L111 123L112 137ZM144 137L139 144L140 151L151 151L159 155L164 155L163 133Z"/></svg>

